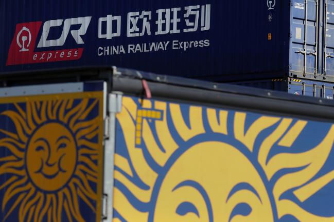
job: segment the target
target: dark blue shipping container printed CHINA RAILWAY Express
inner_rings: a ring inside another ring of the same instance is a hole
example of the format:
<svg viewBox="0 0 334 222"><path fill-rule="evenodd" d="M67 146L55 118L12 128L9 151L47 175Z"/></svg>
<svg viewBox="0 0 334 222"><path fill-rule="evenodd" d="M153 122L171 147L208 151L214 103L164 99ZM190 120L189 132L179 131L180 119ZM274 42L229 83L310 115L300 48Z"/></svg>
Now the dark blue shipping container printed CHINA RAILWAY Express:
<svg viewBox="0 0 334 222"><path fill-rule="evenodd" d="M115 65L334 81L333 0L12 0L0 12L0 72Z"/></svg>

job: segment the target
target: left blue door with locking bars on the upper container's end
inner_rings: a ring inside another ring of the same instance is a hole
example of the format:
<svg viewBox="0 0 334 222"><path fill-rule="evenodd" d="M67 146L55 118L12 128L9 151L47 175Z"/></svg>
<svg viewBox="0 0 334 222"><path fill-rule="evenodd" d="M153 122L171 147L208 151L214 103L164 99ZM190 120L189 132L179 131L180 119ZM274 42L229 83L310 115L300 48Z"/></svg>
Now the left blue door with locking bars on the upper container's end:
<svg viewBox="0 0 334 222"><path fill-rule="evenodd" d="M293 0L291 3L290 66L304 76L317 73L318 11L317 0Z"/></svg>

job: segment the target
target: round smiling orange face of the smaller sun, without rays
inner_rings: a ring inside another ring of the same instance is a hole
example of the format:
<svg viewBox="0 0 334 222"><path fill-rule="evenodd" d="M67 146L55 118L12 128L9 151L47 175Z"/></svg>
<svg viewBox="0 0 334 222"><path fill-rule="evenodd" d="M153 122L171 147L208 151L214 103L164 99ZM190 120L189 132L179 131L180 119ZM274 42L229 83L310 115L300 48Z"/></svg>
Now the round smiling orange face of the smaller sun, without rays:
<svg viewBox="0 0 334 222"><path fill-rule="evenodd" d="M67 184L77 163L72 133L59 123L48 123L33 133L26 153L27 172L41 190L56 191Z"/></svg>

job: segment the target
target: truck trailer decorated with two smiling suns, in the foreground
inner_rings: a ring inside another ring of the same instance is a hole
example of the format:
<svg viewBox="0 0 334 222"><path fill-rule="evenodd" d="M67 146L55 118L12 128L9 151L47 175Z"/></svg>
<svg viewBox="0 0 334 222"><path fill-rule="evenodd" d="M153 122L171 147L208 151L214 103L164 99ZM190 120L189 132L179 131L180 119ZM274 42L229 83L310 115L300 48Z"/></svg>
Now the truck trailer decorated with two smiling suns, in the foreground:
<svg viewBox="0 0 334 222"><path fill-rule="evenodd" d="M115 67L1 79L3 222L334 219L329 100Z"/></svg>

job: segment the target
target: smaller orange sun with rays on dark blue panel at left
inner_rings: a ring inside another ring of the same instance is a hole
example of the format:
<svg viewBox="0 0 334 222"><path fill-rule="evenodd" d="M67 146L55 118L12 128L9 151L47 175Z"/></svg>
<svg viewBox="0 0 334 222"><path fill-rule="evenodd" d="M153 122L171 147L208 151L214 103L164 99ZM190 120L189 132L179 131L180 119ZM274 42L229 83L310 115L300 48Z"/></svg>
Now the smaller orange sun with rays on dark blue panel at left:
<svg viewBox="0 0 334 222"><path fill-rule="evenodd" d="M101 103L92 92L0 104L1 221L99 220Z"/></svg>

